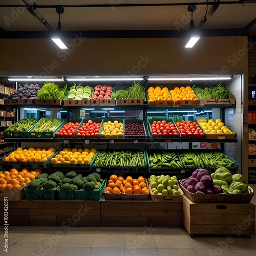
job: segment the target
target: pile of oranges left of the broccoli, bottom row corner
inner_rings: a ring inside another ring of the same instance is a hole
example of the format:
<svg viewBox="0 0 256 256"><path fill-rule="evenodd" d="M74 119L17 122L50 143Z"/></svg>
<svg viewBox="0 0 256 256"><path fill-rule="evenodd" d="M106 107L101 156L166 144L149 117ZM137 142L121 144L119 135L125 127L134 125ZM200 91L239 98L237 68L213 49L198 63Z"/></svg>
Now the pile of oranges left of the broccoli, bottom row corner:
<svg viewBox="0 0 256 256"><path fill-rule="evenodd" d="M17 169L12 168L10 172L0 172L0 189L20 189L25 187L34 180L42 172L40 169L32 170L29 172L27 168L18 172Z"/></svg>

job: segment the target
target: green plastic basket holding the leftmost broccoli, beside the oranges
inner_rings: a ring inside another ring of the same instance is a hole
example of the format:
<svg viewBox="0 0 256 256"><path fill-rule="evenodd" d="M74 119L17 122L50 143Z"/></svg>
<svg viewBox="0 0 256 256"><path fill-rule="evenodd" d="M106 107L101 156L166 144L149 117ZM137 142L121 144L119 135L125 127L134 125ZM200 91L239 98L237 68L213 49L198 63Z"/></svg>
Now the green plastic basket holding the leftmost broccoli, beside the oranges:
<svg viewBox="0 0 256 256"><path fill-rule="evenodd" d="M24 187L25 198L27 200L54 200L56 189L28 189Z"/></svg>

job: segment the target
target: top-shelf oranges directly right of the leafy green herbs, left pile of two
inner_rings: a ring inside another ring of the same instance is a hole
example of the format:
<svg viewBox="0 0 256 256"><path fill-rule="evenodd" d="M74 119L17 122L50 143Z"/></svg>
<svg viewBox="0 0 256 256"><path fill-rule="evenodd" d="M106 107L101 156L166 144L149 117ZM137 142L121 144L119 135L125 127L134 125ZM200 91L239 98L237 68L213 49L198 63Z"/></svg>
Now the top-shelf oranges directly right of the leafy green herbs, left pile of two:
<svg viewBox="0 0 256 256"><path fill-rule="evenodd" d="M167 87L161 89L159 86L156 88L150 87L147 89L148 93L148 104L150 105L160 105L164 101L167 102L168 105L173 105L174 100L170 96L169 90Z"/></svg>

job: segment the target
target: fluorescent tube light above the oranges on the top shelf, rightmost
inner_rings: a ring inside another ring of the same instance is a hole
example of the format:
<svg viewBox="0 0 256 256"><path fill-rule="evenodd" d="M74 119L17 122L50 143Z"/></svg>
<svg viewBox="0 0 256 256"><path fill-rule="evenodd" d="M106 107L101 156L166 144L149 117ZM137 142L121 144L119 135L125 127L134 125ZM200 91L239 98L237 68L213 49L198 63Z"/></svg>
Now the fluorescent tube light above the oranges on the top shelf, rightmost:
<svg viewBox="0 0 256 256"><path fill-rule="evenodd" d="M204 81L204 80L230 80L230 76L180 76L180 77L172 77L172 76L154 76L148 77L148 81Z"/></svg>

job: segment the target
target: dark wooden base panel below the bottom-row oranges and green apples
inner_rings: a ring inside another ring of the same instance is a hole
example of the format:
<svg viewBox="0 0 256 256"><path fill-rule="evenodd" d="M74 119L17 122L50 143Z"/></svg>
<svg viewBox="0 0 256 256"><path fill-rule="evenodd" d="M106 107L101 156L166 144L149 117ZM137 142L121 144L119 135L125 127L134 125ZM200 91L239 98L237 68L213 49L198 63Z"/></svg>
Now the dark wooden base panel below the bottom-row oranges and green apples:
<svg viewBox="0 0 256 256"><path fill-rule="evenodd" d="M101 201L101 226L182 227L182 202Z"/></svg>

